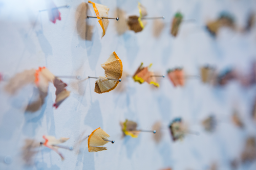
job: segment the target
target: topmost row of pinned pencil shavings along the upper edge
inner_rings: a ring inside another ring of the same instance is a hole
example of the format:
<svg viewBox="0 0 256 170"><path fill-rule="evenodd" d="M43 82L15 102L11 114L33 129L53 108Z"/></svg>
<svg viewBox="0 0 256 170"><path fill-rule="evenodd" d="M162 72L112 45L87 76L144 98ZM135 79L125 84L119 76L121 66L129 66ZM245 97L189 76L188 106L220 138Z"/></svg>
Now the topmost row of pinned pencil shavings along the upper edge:
<svg viewBox="0 0 256 170"><path fill-rule="evenodd" d="M91 1L89 1L88 3L91 3L93 5L93 9L95 11L96 18L99 19L98 22L102 28L102 37L103 37L106 33L106 30L108 29L108 26L109 26L108 19L110 19L110 18L108 18L108 15L109 15L110 9L107 6L93 3ZM48 9L49 18L53 23L55 23L56 19L60 20L60 12L58 11L58 8L56 8L56 6L53 4L52 1L50 1L50 3L48 3L48 4L49 4L48 5L49 6L48 7L49 8ZM69 6L65 6L65 7L69 7ZM116 17L116 20L119 20L119 22L117 22L117 24L116 24L116 27L117 27L116 29L117 29L118 34L123 34L124 32L126 32L127 29L134 31L135 33L141 32L147 23L145 19L159 19L159 18L164 19L165 18L164 16L163 17L146 18L145 16L147 15L147 11L146 11L145 7L143 7L140 3L138 3L138 9L139 9L139 16L132 15L132 16L129 16L127 19L126 19L124 12L122 12L121 10L117 10L117 15L120 15L119 17ZM44 11L44 10L42 10L42 11ZM88 18L89 18L89 16L88 16ZM111 19L113 19L113 18L111 18ZM170 33L173 36L175 36L175 37L177 36L179 29L180 29L180 25L184 21L195 21L195 19L184 20L183 15L180 12L177 12L172 19L172 27L170 30ZM250 30L251 27L254 26L254 23L255 23L255 15L254 15L254 13L251 13L247 20L246 27L244 29L242 29L242 31ZM158 23L156 23L156 25L159 25L158 27L156 27L158 29L156 31L161 32L162 28L164 27L164 23L158 22ZM235 28L234 17L227 12L222 12L216 20L209 21L206 24L207 30L214 36L216 36L218 34L218 31L220 30L221 27L228 27L228 28L234 29ZM158 35L159 34L160 33L158 33Z"/></svg>

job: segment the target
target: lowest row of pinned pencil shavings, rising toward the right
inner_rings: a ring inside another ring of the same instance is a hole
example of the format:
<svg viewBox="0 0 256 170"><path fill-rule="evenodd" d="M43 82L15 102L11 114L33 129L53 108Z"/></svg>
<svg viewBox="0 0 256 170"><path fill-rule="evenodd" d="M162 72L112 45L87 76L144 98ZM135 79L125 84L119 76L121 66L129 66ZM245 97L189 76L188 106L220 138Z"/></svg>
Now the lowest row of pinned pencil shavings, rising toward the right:
<svg viewBox="0 0 256 170"><path fill-rule="evenodd" d="M241 117L238 115L238 112L234 112L231 116L231 120L234 123L234 125L244 128L244 123ZM205 131L208 132L214 132L216 129L216 126L220 122L217 120L215 115L210 115L207 118L202 120L202 126L204 127ZM141 132L153 132L154 139L156 142L159 142L162 138L162 130L165 130L164 127L162 127L161 122L157 122L152 128L154 130L141 130L137 129L137 123L133 122L131 120L126 119L125 122L120 122L121 130L123 132L124 136L131 136L132 138L137 138ZM188 130L188 126L183 123L181 118L175 118L169 125L168 129L170 130L170 135L172 136L174 141L182 140L186 134L196 134L199 135L197 132L193 132L191 130ZM88 138L88 151L89 152L98 152L98 151L104 151L107 150L105 147L101 147L102 145L112 142L114 143L114 140L109 140L108 138L110 135L108 135L106 132L104 132L101 128L98 128L94 130L91 135L86 136L85 140ZM66 142L69 138L60 138L56 139L53 136L43 136L45 139L45 142L40 142L41 145L45 145L45 147L48 147L58 153L63 160L64 157L61 155L60 152L58 152L58 148L63 149L69 149L73 150L73 147L65 147L63 145L59 145L60 143ZM80 146L79 146L80 147Z"/></svg>

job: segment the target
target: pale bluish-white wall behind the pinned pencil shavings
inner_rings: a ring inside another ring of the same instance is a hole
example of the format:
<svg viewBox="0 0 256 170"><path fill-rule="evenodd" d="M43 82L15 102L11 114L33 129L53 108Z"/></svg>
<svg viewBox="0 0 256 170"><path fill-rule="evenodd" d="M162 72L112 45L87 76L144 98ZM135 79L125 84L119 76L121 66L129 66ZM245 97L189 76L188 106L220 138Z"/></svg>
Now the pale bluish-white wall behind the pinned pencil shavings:
<svg viewBox="0 0 256 170"><path fill-rule="evenodd" d="M115 16L117 7L127 16L138 15L137 1L96 0L95 3L110 8L109 16ZM90 19L93 28L92 41L84 40L85 12L80 11L86 1L55 0L61 21L49 21L45 1L0 1L0 72L12 77L26 69L46 66L54 75L103 76L100 64L114 51L122 60L123 70L133 74L140 62L153 63L158 74L166 74L168 68L182 66L187 74L199 75L204 64L215 64L218 70L236 67L248 71L256 56L256 31L238 33L222 29L213 38L205 29L209 19L216 19L220 12L228 11L236 18L239 28L245 27L247 15L255 11L256 2L239 0L143 0L148 16L165 16L165 27L159 38L153 37L153 21L148 20L145 29L135 34L127 31L118 35L115 20L110 20L106 35L101 39L97 19ZM90 11L95 15L92 5ZM181 25L177 38L169 34L170 21L180 11L184 19L196 22ZM35 23L35 24L34 24ZM11 95L5 91L7 81L0 82L0 169L207 169L214 162L219 169L230 169L230 161L239 158L245 139L255 135L255 123L250 114L255 99L255 86L243 88L238 82L225 87L212 87L200 80L188 80L182 88L174 88L167 78L158 79L160 88L134 83L128 78L122 81L125 91L94 92L95 80L78 81L62 79L68 84L70 97L58 109L52 104L55 88L51 84L46 102L36 112L26 112L29 103L38 96L33 84ZM241 130L231 123L234 106L246 123ZM221 119L214 133L203 130L200 122L210 114ZM182 117L190 130L199 136L187 135L183 141L173 142L167 126L175 117ZM134 120L141 129L151 129L161 121L165 130L159 143L152 133L141 133L138 138L122 138L119 122ZM65 145L75 145L79 136L90 134L101 127L114 139L108 143L108 151L89 153L87 142L82 143L80 153L60 150L59 155L41 147L33 163L23 159L26 139L43 141L42 135L56 138L70 137ZM12 157L6 164L4 158ZM240 169L249 169L240 166ZM255 169L252 164L250 169Z"/></svg>

